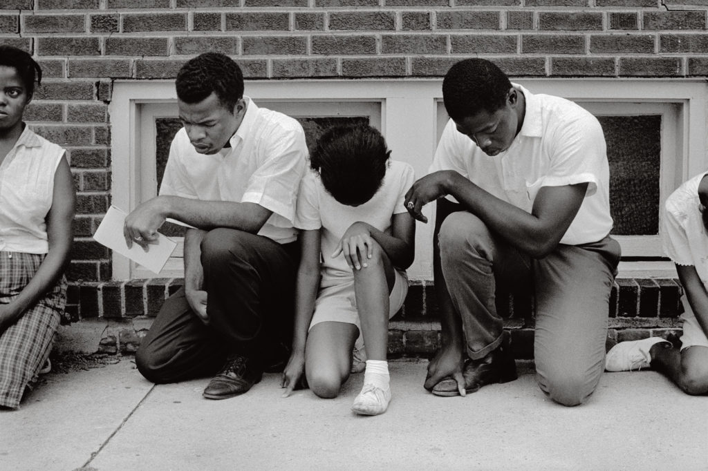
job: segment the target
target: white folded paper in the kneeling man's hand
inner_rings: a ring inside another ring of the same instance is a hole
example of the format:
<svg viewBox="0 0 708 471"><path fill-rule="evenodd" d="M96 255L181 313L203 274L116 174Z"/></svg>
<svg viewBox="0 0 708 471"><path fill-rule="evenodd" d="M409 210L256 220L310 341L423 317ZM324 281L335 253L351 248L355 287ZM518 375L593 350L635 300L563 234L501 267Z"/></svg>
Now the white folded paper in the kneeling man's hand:
<svg viewBox="0 0 708 471"><path fill-rule="evenodd" d="M93 234L93 239L114 252L130 258L133 262L141 264L150 271L159 273L162 267L165 266L167 259L172 255L177 243L158 233L158 243L148 245L147 252L137 243L133 243L131 248L127 248L123 237L125 216L127 216L125 211L115 206L108 208L108 212L103 216L101 225L98 226L96 233Z"/></svg>

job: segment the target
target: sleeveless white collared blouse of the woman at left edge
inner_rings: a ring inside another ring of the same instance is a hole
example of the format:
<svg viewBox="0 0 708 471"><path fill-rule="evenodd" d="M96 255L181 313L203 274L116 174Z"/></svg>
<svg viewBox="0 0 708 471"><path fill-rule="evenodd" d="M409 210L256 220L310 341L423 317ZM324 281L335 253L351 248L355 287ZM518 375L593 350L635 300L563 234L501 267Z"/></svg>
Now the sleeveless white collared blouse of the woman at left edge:
<svg viewBox="0 0 708 471"><path fill-rule="evenodd" d="M47 213L64 149L25 125L0 163L0 250L43 254L49 251Z"/></svg>

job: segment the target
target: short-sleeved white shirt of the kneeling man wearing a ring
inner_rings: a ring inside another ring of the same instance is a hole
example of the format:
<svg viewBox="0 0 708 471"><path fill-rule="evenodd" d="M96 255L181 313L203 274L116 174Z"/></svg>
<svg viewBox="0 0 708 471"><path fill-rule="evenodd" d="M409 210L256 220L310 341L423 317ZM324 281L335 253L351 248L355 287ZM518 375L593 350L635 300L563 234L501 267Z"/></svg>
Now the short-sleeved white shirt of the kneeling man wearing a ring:
<svg viewBox="0 0 708 471"><path fill-rule="evenodd" d="M527 212L542 187L587 182L586 197L561 243L579 245L604 238L612 229L612 217L610 168L600 122L565 98L535 95L520 85L513 86L524 94L526 111L509 149L487 156L450 120L430 173L456 170L483 190Z"/></svg>

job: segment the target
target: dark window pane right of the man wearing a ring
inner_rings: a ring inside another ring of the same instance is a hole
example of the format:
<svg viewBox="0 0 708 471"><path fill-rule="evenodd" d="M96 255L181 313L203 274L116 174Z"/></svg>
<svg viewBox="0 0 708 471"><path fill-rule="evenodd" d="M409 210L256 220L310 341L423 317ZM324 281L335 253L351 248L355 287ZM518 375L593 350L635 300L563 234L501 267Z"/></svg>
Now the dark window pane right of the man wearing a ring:
<svg viewBox="0 0 708 471"><path fill-rule="evenodd" d="M599 116L598 120L610 161L612 234L658 234L661 115Z"/></svg>

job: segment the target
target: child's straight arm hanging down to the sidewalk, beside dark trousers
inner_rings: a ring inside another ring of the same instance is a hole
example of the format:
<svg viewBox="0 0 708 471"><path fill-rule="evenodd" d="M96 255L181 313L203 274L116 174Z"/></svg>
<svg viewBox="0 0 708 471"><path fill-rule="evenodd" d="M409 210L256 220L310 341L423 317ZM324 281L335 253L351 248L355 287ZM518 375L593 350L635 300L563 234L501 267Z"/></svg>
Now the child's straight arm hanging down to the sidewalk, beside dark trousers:
<svg viewBox="0 0 708 471"><path fill-rule="evenodd" d="M307 330L312 321L314 302L319 289L320 231L302 231L299 235L301 248L300 264L295 281L295 326L292 334L292 354L282 373L281 387L287 388L283 397L297 385L304 373L305 343Z"/></svg>

